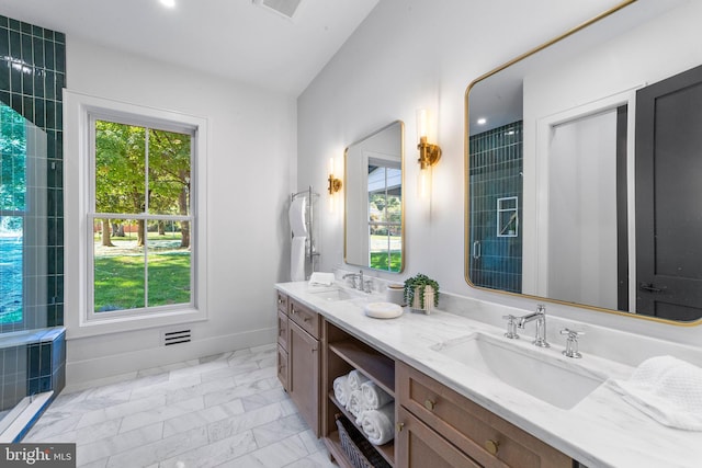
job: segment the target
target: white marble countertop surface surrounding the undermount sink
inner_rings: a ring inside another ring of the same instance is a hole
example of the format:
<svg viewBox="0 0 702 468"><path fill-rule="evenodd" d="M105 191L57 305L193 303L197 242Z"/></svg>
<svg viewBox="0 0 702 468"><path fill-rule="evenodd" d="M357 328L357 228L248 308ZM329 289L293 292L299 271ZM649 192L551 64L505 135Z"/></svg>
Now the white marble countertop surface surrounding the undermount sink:
<svg viewBox="0 0 702 468"><path fill-rule="evenodd" d="M433 377L589 468L702 466L702 432L659 424L624 402L607 384L571 409L564 410L498 379L476 379L464 365L432 350L439 343L473 332L507 340L501 328L439 310L426 316L405 309L396 319L373 319L363 313L363 303L383 300L382 295L331 301L315 294L324 287L309 286L306 282L281 283L275 288L306 304L329 322L373 347ZM563 357L559 344L552 343L551 349L541 350L531 345L531 340L508 341L516 346L528 346L530 353L535 350L552 358L564 359L585 374L627 378L634 370L593 355L585 355L581 359Z"/></svg>

